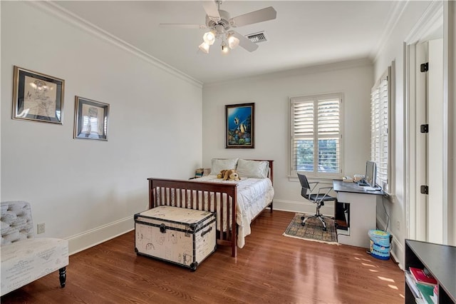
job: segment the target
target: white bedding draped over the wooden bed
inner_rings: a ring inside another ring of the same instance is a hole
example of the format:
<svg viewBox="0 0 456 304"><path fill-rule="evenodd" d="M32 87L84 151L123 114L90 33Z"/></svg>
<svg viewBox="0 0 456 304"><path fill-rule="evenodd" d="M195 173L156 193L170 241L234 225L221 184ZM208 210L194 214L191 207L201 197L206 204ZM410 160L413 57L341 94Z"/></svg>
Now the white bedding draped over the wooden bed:
<svg viewBox="0 0 456 304"><path fill-rule="evenodd" d="M274 198L269 178L242 178L240 181L222 181L217 176L203 176L192 181L237 183L237 246L243 248L245 237L251 233L250 223Z"/></svg>

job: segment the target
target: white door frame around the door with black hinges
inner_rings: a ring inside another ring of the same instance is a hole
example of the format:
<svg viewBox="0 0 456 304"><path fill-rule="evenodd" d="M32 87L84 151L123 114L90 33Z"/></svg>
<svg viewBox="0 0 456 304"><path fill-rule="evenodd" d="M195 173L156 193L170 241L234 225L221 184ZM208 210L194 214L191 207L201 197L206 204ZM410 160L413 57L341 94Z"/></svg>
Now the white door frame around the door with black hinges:
<svg viewBox="0 0 456 304"><path fill-rule="evenodd" d="M415 169L417 159L413 147L415 145L415 113L411 112L415 103L415 71L410 62L415 61L413 45L425 37L435 24L440 22L443 27L443 185L442 207L443 243L456 245L456 1L433 1L423 14L420 21L404 40L404 130L405 130L405 177L404 177L404 211L406 225L406 238L415 238L418 222L416 221Z"/></svg>

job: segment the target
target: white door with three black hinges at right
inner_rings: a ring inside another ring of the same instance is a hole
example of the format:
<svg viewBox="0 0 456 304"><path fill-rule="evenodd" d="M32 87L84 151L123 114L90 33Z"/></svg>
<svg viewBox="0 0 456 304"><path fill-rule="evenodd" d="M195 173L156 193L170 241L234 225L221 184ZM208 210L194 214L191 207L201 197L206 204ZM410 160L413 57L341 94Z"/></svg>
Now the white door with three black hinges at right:
<svg viewBox="0 0 456 304"><path fill-rule="evenodd" d="M427 63L427 71L422 64ZM416 49L416 239L443 242L443 41ZM428 125L422 133L422 125ZM427 186L428 194L421 186Z"/></svg>

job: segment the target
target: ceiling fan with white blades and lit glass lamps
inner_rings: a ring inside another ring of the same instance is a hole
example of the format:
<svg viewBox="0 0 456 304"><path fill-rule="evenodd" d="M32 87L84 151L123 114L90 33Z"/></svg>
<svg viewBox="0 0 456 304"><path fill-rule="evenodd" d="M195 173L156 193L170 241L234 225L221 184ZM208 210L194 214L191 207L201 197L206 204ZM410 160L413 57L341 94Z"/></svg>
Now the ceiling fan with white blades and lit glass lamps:
<svg viewBox="0 0 456 304"><path fill-rule="evenodd" d="M238 45L250 52L258 49L257 44L254 44L254 42L232 28L276 19L276 10L269 6L247 14L231 17L227 11L220 9L220 4L222 4L222 1L219 0L202 1L202 6L204 11L206 11L205 24L160 24L160 27L209 29L203 35L203 43L199 45L199 49L206 54L209 54L209 48L214 44L215 39L222 40L222 53L228 53L229 49L234 49Z"/></svg>

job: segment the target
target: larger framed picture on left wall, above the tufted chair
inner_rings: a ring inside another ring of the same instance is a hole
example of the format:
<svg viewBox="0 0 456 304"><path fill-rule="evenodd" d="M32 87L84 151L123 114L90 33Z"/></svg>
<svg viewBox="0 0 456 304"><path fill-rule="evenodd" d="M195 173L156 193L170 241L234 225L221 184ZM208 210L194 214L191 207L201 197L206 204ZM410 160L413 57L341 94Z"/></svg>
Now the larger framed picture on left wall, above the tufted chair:
<svg viewBox="0 0 456 304"><path fill-rule="evenodd" d="M65 81L14 66L13 119L62 124Z"/></svg>

